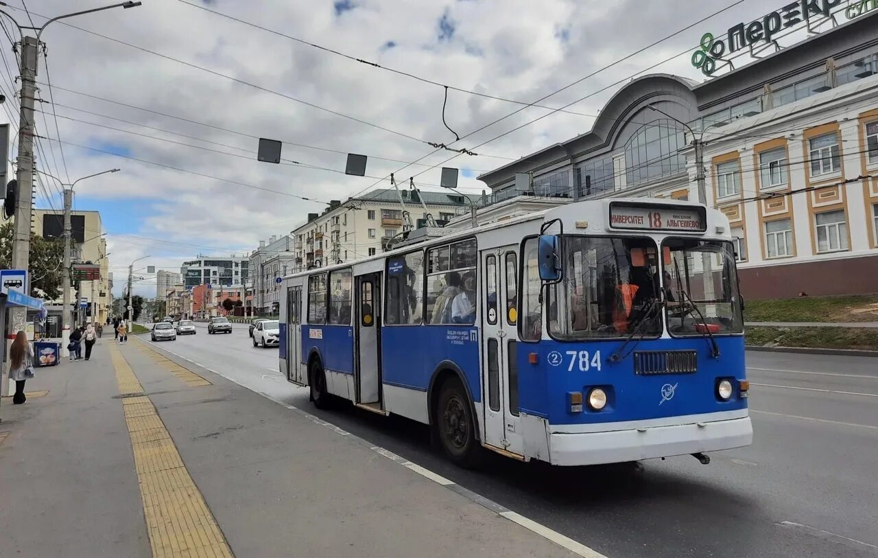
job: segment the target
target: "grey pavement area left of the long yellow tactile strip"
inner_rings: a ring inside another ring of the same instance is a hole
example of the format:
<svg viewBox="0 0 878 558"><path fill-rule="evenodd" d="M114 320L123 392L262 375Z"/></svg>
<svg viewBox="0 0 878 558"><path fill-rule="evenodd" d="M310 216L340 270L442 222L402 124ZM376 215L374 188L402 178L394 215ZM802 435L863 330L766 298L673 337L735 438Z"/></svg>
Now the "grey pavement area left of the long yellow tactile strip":
<svg viewBox="0 0 878 558"><path fill-rule="evenodd" d="M0 556L150 555L107 346L37 368L26 389L47 395L0 403Z"/></svg>

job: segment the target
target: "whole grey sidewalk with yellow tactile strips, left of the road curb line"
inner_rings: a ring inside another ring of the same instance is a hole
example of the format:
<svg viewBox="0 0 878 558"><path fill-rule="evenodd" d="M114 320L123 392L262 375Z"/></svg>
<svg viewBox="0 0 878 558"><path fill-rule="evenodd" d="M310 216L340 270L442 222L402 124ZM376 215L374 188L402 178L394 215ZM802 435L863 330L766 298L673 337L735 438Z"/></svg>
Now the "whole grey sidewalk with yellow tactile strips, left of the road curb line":
<svg viewBox="0 0 878 558"><path fill-rule="evenodd" d="M47 395L4 400L0 555L598 555L186 366L104 338L38 369L27 391Z"/></svg>

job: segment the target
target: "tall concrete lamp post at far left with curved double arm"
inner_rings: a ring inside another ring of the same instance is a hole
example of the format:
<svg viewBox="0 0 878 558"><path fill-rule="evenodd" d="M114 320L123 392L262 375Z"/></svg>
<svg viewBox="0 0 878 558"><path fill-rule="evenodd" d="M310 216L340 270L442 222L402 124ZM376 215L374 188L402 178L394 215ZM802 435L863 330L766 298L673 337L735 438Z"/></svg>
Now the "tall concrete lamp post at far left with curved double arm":
<svg viewBox="0 0 878 558"><path fill-rule="evenodd" d="M0 5L6 4L0 2ZM19 25L8 12L0 10L0 15L18 27L21 37L21 56L19 72L21 77L21 110L18 118L18 171L17 184L18 196L15 203L15 233L12 241L11 267L13 269L28 269L30 266L31 250L31 216L33 212L33 138L37 134L34 126L33 105L37 91L37 67L40 59L40 35L46 27L59 19L73 18L95 11L110 10L112 8L133 8L140 2L123 2L101 8L75 11L72 13L50 18L40 27L28 27ZM25 30L35 32L36 37L25 36ZM10 311L10 331L25 329L26 309L13 307ZM64 345L67 346L66 344Z"/></svg>

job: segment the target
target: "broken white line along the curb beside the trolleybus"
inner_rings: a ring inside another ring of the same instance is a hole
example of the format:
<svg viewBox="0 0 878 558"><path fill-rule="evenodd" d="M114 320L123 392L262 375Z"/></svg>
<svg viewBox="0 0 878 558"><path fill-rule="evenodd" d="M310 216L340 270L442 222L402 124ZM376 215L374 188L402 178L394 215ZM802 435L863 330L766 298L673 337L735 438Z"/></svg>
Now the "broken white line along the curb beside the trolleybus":
<svg viewBox="0 0 878 558"><path fill-rule="evenodd" d="M144 343L153 344L151 341L144 341ZM167 349L164 349L164 350L167 351ZM168 352L176 357L184 359L186 362L191 362L192 364L195 364L191 359L187 359L186 357L184 357L181 354L177 354L174 351L168 351ZM205 368L205 366L201 366L201 367ZM208 372L215 373L216 375L221 376L222 378L225 378L226 380L229 380L238 386L241 386L241 388L246 388L246 389L249 389L250 391L255 391L255 389L250 388L248 386L245 386L240 381L234 379L231 376L227 376L224 373L219 373L216 370L212 370L211 368L205 368L205 370L207 370ZM342 436L349 436L350 435L349 431L345 431L342 428L335 426L335 424L327 423L325 420L322 420L319 417L315 417L311 413L309 413L303 409L299 409L299 407L291 405L290 403L280 401L279 399L275 399L271 395L268 395L268 394L263 393L263 392L255 392L255 393L262 395L263 397L265 397L266 399L268 399L271 402L276 402L278 405L283 405L287 409L295 410L295 411L301 413L302 415L304 415L308 420L311 420L313 423L320 424L321 426L326 426L330 430L335 431L335 433L337 433L337 434L341 434ZM446 479L442 475L434 473L433 471L430 471L426 467L421 467L420 465L412 463L411 461L406 460L405 458L397 455L396 453L391 452L390 450L386 450L383 447L371 446L371 450L375 453L379 453L380 455L383 455L384 457L386 457L389 460L392 460L392 461L399 463L399 465L402 465L403 467L407 467L407 468L411 469L415 473L422 475L424 478L427 478L430 481L437 482L438 484L440 484L442 486L450 486L451 484L455 484L455 482L452 482L452 481ZM479 496L481 496L481 495L479 495ZM485 497L485 496L481 496L481 497ZM485 499L490 501L492 504L496 504L497 506L499 506L501 508L504 507L504 506L500 506L500 504L497 504L496 502L493 502L493 500L489 500L486 497L485 497ZM525 529L528 529L530 532L536 533L537 535L543 537L544 539L550 540L551 542L554 542L555 544L557 544L559 547L564 547L567 550L571 551L573 554L577 554L577 555L581 556L582 558L607 558L607 556L605 556L604 554L601 554L601 553L597 552L596 550L593 550L592 548L587 547L586 545L584 545L580 542L577 542L576 540L572 540L570 537L566 537L565 535L558 533L557 531L553 531L552 529L550 529L549 527L547 527L545 525L536 523L536 521L534 521L533 519L525 518L524 516L522 516L519 513L516 513L515 511L502 511L502 512L500 512L500 516L502 516L503 518L507 518L508 520L510 520L514 523L517 523L518 525L522 525L522 527L524 527Z"/></svg>

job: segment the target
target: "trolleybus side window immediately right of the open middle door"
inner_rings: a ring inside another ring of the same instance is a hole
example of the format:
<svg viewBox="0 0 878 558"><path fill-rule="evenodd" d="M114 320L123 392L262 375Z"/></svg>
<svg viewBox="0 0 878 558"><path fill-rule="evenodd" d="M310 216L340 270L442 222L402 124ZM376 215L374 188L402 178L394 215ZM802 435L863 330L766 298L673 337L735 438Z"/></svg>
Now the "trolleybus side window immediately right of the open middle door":
<svg viewBox="0 0 878 558"><path fill-rule="evenodd" d="M421 323L424 296L424 253L387 258L385 323Z"/></svg>

